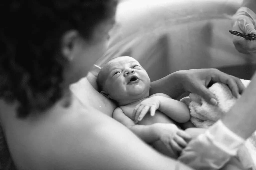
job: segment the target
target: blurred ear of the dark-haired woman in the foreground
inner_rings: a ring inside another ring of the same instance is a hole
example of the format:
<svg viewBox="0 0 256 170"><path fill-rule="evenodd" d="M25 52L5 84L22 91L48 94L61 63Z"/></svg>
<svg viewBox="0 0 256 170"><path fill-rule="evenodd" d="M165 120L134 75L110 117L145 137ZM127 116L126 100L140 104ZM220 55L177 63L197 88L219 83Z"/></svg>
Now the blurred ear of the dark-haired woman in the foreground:
<svg viewBox="0 0 256 170"><path fill-rule="evenodd" d="M76 30L67 31L63 37L61 42L61 52L62 55L71 61L74 58L74 44L76 43L76 39L79 34Z"/></svg>

